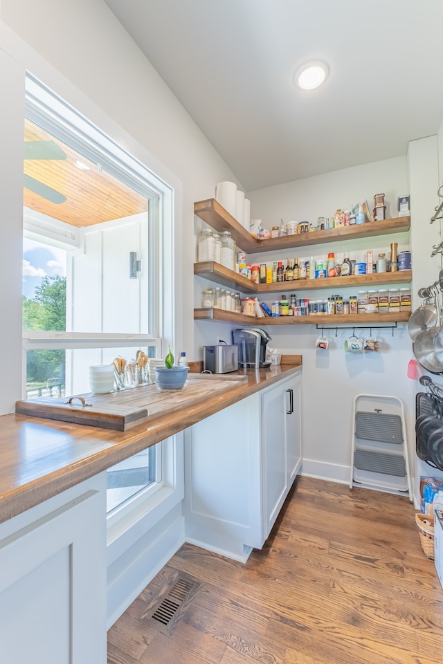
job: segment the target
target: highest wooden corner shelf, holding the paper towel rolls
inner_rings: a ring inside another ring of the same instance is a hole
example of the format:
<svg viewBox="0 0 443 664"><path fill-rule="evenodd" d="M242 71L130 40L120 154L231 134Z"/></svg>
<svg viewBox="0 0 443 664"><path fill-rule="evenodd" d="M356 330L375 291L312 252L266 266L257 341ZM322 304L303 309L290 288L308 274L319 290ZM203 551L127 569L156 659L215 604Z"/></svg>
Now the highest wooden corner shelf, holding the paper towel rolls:
<svg viewBox="0 0 443 664"><path fill-rule="evenodd" d="M248 253L309 247L316 244L351 240L359 237L401 233L408 231L410 228L410 217L401 216L397 217L397 219L383 219L382 221L341 226L328 230L316 230L311 233L257 240L215 199L207 199L206 201L197 201L197 203L194 203L194 214L203 219L203 221L206 221L211 228L214 228L218 232L228 230L232 234L237 246Z"/></svg>

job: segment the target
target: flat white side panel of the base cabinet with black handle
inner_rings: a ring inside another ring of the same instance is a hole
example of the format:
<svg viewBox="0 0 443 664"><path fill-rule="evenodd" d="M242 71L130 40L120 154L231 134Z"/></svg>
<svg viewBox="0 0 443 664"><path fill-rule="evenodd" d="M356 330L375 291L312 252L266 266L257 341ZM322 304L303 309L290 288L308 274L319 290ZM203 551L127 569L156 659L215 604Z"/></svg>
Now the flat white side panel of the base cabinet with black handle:
<svg viewBox="0 0 443 664"><path fill-rule="evenodd" d="M185 431L184 514L187 542L242 561L262 546L259 394Z"/></svg>

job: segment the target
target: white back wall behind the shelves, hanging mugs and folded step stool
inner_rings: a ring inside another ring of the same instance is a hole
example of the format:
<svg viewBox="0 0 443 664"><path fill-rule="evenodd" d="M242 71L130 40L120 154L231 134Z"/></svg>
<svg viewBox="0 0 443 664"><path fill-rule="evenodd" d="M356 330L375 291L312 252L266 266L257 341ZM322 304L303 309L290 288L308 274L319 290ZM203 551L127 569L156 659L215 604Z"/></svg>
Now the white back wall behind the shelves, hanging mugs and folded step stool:
<svg viewBox="0 0 443 664"><path fill-rule="evenodd" d="M435 158L435 157L434 157ZM325 175L306 178L265 190L248 192L251 216L263 219L266 228L284 221L316 221L318 216L332 216L336 208L348 208L384 193L390 204L389 216L397 216L397 197L409 193L406 157L395 158L344 169ZM418 221L418 220L417 220ZM363 259L366 249L389 253L391 242L399 243L399 250L408 248L407 233L386 235L347 243L315 246L311 254L316 259L334 251L343 259L343 251L350 257ZM300 250L262 255L264 261L287 257L308 259ZM415 254L413 253L413 256ZM257 256L257 261L260 259ZM415 268L415 261L413 259ZM296 292L297 288L289 288ZM325 299L334 293L355 293L355 288L334 288L332 291L300 291L300 297ZM279 298L277 298L279 299ZM345 322L343 322L345 325ZM320 334L315 325L278 326L268 329L271 345L285 352L303 356L302 410L303 410L303 472L318 477L349 481L350 456L353 435L352 407L357 394L397 396L404 401L408 412L408 436L411 460L415 439L413 415L415 382L406 378L408 362L412 357L410 338L405 324L394 331L376 331L379 353L360 356L346 354L343 342L352 330L327 331L330 344L324 352L315 348ZM368 336L369 329L356 331L359 337Z"/></svg>

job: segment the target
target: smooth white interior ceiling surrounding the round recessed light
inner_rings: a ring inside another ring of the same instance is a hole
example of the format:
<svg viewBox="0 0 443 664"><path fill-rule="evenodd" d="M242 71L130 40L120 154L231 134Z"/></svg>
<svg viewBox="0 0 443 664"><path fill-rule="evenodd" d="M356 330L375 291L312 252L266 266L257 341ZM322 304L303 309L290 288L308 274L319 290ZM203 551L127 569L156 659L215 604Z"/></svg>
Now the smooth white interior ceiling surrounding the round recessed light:
<svg viewBox="0 0 443 664"><path fill-rule="evenodd" d="M105 0L246 191L405 155L443 120L441 0ZM324 59L324 86L296 68Z"/></svg>

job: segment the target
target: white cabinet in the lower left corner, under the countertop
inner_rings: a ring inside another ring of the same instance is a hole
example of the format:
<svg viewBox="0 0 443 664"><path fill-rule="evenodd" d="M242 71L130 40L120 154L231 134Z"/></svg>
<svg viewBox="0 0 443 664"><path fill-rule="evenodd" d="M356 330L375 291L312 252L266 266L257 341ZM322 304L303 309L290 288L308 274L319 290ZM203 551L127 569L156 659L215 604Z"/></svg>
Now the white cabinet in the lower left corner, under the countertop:
<svg viewBox="0 0 443 664"><path fill-rule="evenodd" d="M105 477L0 525L0 660L106 663Z"/></svg>

